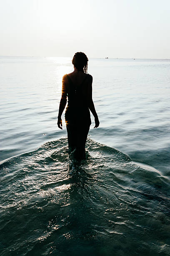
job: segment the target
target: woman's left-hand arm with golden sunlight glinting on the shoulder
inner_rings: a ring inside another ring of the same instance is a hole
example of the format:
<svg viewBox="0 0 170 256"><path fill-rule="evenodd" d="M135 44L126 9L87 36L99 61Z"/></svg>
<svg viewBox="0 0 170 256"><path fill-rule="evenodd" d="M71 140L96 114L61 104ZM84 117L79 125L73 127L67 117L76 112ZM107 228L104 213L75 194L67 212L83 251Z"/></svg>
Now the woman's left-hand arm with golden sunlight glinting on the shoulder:
<svg viewBox="0 0 170 256"><path fill-rule="evenodd" d="M61 115L62 112L65 109L65 105L67 103L67 87L65 84L65 80L66 80L66 75L64 75L62 77L62 93L61 93L61 100L60 100L60 106L59 106L59 110L58 110L58 121L57 121L57 125L60 129L62 129L62 119L61 119Z"/></svg>

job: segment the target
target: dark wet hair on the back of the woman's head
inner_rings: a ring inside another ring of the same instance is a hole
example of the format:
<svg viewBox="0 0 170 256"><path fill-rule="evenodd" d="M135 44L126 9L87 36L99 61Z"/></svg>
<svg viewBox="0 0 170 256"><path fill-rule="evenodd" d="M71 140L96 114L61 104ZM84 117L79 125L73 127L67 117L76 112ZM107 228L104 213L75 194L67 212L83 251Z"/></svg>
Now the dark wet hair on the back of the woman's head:
<svg viewBox="0 0 170 256"><path fill-rule="evenodd" d="M76 69L85 73L87 73L87 62L87 56L81 51L76 52L74 57L72 58L72 64L76 67Z"/></svg>

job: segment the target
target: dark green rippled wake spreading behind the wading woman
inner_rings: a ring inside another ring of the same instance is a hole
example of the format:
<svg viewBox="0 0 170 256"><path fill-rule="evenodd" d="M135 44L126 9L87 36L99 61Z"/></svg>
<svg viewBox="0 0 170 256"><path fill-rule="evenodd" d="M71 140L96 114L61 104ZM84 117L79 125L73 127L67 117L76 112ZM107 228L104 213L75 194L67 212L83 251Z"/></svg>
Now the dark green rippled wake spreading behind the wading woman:
<svg viewBox="0 0 170 256"><path fill-rule="evenodd" d="M72 164L67 139L1 165L1 255L169 255L170 180L87 140Z"/></svg>

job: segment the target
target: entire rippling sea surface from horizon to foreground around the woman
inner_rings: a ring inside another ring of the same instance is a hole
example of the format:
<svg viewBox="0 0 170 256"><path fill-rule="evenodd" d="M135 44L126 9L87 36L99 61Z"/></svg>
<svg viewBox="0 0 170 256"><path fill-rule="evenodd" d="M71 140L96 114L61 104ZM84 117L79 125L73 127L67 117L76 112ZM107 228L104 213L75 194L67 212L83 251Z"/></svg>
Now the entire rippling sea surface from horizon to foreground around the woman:
<svg viewBox="0 0 170 256"><path fill-rule="evenodd" d="M0 256L170 255L170 60L89 59L100 126L81 164L57 128L72 70L0 56Z"/></svg>

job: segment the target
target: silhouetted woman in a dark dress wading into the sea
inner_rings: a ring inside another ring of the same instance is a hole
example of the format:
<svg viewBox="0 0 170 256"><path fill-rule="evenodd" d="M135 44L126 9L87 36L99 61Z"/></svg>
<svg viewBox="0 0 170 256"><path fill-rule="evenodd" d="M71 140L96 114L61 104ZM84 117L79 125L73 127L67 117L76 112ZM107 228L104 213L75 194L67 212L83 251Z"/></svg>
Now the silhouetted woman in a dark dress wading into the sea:
<svg viewBox="0 0 170 256"><path fill-rule="evenodd" d="M73 59L74 71L62 78L62 96L58 113L57 125L62 129L61 115L65 111L65 123L68 136L69 153L77 160L86 159L85 143L91 125L90 111L95 118L95 127L99 126L99 119L92 101L92 76L87 74L87 56L77 52ZM89 111L90 109L90 111Z"/></svg>

